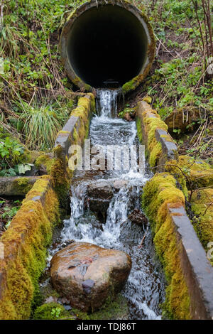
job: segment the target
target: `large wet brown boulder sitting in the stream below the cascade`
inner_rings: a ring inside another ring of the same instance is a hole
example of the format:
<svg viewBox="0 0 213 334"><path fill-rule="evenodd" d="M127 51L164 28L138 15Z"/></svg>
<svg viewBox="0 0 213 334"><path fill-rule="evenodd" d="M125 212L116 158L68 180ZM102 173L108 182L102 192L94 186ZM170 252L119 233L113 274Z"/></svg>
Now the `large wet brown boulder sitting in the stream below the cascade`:
<svg viewBox="0 0 213 334"><path fill-rule="evenodd" d="M53 286L72 307L95 311L121 291L131 258L116 249L74 242L54 255L50 270Z"/></svg>

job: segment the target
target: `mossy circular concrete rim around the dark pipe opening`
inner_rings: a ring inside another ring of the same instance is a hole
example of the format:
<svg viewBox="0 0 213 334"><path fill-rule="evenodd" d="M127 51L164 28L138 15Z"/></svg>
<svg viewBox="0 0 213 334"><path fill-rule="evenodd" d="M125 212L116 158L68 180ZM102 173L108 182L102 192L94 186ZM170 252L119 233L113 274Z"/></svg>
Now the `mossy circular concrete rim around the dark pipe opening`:
<svg viewBox="0 0 213 334"><path fill-rule="evenodd" d="M155 37L153 33L153 28L148 21L148 17L146 16L146 14L140 11L136 6L133 6L133 4L131 4L129 1L123 0L121 2L120 0L109 0L109 1L91 0L78 6L77 9L72 11L70 16L68 16L65 26L62 28L62 33L60 36L60 58L62 65L65 68L67 76L70 78L70 80L74 83L75 86L79 87L80 90L86 92L92 92L92 91L94 92L97 90L97 88L88 85L80 77L78 77L77 74L75 73L75 70L72 68L72 64L70 63L70 60L67 55L68 38L66 37L68 36L72 28L72 24L77 20L80 14L83 14L85 11L97 6L108 6L108 5L120 6L126 9L127 11L130 11L141 22L143 29L146 32L146 36L148 38L146 61L143 63L141 71L138 73L138 75L136 75L136 77L133 77L131 80L122 85L122 92L123 94L126 94L127 92L135 90L136 87L138 87L138 85L140 85L141 82L143 82L145 77L148 75L148 72L151 70L155 58Z"/></svg>

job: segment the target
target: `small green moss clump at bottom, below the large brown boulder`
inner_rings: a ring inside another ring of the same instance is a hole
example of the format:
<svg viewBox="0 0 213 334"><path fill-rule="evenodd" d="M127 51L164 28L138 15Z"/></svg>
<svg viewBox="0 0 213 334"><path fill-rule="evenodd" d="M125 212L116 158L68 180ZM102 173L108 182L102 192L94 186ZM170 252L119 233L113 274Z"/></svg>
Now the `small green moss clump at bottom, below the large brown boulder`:
<svg viewBox="0 0 213 334"><path fill-rule="evenodd" d="M34 320L60 320L60 319L70 319L70 313L65 310L65 308L60 303L45 303L42 306L36 308Z"/></svg>

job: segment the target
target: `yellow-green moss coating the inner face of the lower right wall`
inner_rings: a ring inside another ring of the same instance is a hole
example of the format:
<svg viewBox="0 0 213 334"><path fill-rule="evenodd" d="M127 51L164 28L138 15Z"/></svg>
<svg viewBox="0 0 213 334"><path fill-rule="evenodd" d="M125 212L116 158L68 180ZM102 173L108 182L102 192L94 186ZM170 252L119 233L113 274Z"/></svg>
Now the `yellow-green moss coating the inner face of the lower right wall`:
<svg viewBox="0 0 213 334"><path fill-rule="evenodd" d="M167 289L163 303L164 315L173 319L190 319L190 296L180 265L180 247L168 205L184 205L185 196L176 188L168 173L156 173L143 188L142 207L149 217L155 249L163 263Z"/></svg>

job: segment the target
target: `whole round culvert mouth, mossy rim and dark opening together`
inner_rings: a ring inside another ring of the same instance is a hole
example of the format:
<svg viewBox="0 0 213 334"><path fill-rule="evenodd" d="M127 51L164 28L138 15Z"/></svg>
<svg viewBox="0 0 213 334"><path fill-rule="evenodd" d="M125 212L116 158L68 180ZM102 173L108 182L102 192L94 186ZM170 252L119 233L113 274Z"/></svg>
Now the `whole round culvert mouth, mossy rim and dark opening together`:
<svg viewBox="0 0 213 334"><path fill-rule="evenodd" d="M144 14L123 1L91 1L67 20L62 63L77 87L134 90L153 63L153 31Z"/></svg>

